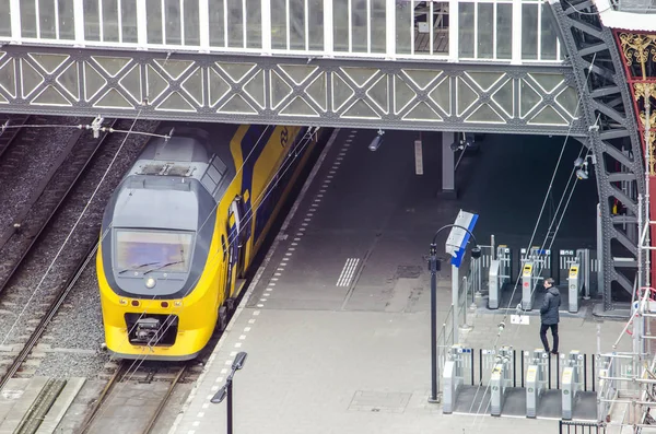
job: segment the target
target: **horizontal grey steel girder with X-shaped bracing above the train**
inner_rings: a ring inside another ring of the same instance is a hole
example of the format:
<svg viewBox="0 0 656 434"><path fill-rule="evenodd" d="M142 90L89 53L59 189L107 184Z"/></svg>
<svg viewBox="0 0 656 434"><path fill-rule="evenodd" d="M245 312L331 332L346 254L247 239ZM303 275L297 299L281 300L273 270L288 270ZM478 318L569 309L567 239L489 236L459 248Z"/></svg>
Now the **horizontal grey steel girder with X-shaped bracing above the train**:
<svg viewBox="0 0 656 434"><path fill-rule="evenodd" d="M4 46L0 113L584 136L571 68Z"/></svg>

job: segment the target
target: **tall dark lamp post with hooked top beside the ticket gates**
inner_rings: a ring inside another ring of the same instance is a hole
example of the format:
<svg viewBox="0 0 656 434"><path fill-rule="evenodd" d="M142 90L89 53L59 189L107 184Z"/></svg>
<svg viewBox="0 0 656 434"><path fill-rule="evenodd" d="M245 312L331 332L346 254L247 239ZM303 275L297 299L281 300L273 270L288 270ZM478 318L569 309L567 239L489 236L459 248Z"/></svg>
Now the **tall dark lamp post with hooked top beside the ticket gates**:
<svg viewBox="0 0 656 434"><path fill-rule="evenodd" d="M476 237L465 226L460 226L458 224L447 224L442 226L435 232L433 235L433 241L431 242L431 249L429 251L429 270L431 271L431 397L429 398L429 402L438 402L437 400L437 272L442 268L441 260L437 258L437 235L448 228L448 227L457 227L466 231L471 238L473 239L473 244L476 247L471 249L471 256L473 258L479 258L481 256L481 249L478 247L478 243L476 242ZM455 266L454 266L455 267ZM457 310L458 310L458 279L453 279L454 283L454 337L456 336L455 327L457 327Z"/></svg>

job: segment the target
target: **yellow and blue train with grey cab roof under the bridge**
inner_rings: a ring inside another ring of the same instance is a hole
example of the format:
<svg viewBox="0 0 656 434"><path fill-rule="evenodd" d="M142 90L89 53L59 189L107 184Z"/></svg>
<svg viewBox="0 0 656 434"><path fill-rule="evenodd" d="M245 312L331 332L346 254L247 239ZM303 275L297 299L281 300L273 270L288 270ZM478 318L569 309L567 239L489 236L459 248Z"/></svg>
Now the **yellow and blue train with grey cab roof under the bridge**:
<svg viewBox="0 0 656 434"><path fill-rule="evenodd" d="M216 324L225 327L319 134L221 128L175 127L171 139L152 139L107 204L96 269L117 357L194 359Z"/></svg>

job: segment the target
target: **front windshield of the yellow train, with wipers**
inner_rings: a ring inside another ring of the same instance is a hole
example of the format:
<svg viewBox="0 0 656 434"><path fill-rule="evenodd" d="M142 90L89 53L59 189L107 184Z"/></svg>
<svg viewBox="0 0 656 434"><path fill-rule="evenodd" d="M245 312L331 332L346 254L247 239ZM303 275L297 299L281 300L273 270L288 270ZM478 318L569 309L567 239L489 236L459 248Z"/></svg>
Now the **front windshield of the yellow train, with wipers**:
<svg viewBox="0 0 656 434"><path fill-rule="evenodd" d="M187 272L194 234L116 230L115 267L120 271Z"/></svg>

